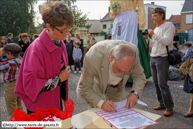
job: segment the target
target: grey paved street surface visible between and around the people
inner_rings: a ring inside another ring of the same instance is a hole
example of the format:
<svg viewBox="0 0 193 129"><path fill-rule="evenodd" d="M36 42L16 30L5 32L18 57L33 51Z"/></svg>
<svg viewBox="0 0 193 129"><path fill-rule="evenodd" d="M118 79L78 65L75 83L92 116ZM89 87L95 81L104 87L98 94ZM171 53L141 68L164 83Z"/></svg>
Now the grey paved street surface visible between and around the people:
<svg viewBox="0 0 193 129"><path fill-rule="evenodd" d="M78 80L80 78L80 74L74 74L72 72L70 79L69 79L69 98L72 99L75 103L75 110L74 115L80 113L82 111L87 110L86 104L81 104L77 101L76 98L76 86ZM143 94L140 98L141 101L147 103L146 106L136 105L135 108L139 108L141 110L145 110L151 113L162 115L162 119L158 122L158 124L151 126L151 128L193 128L193 117L191 118L184 118L184 114L188 111L189 108L189 94L185 93L182 90L183 87L183 80L182 81L169 81L169 86L171 89L171 93L174 100L174 114L170 117L164 117L163 113L164 110L155 111L153 107L158 105L157 96L155 87L152 82L152 78L147 80L147 83L144 87ZM126 99L127 95L129 94L131 86L127 85L125 88L124 98ZM3 83L0 83L0 120L1 121L8 121L9 117L7 114L7 110L5 107L5 100L4 100L4 92L3 92Z"/></svg>

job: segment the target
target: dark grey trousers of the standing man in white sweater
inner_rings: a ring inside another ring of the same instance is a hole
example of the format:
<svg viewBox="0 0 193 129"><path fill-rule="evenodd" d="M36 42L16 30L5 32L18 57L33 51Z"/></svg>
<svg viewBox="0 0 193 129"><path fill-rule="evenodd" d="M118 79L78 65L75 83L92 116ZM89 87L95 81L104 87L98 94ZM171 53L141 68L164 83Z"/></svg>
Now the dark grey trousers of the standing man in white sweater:
<svg viewBox="0 0 193 129"><path fill-rule="evenodd" d="M161 106L166 107L168 110L172 110L174 108L174 103L170 88L167 84L170 66L168 57L151 57L150 65L158 101Z"/></svg>

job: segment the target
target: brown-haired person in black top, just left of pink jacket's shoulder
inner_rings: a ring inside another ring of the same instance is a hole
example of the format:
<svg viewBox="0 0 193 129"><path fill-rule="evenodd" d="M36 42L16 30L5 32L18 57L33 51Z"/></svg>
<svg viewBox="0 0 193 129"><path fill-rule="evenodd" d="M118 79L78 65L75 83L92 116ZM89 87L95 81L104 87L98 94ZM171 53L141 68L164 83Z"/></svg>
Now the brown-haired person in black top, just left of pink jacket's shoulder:
<svg viewBox="0 0 193 129"><path fill-rule="evenodd" d="M28 33L23 33L21 35L21 40L18 41L18 44L21 46L22 51L20 52L20 56L23 57L26 49L29 47L30 45L30 41L29 41L29 37L28 37Z"/></svg>

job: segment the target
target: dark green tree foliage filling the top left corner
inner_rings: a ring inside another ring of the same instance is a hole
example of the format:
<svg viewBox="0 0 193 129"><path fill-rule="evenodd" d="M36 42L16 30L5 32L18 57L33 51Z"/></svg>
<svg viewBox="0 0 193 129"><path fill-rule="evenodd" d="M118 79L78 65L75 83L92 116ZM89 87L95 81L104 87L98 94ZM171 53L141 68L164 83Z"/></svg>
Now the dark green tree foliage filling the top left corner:
<svg viewBox="0 0 193 129"><path fill-rule="evenodd" d="M37 0L0 0L0 35L35 31L33 5Z"/></svg>

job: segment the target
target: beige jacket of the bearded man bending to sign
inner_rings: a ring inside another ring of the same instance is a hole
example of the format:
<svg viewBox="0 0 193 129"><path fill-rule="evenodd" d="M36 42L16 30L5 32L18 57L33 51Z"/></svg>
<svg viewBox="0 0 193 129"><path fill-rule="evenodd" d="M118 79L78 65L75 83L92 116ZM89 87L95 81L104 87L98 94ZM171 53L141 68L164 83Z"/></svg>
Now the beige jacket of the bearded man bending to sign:
<svg viewBox="0 0 193 129"><path fill-rule="evenodd" d="M112 50L119 44L128 44L121 40L105 40L98 42L90 48L84 58L83 71L77 86L77 97L80 101L86 101L91 107L96 107L102 96L113 102L121 101L125 90L125 84L130 76L133 78L132 90L139 96L146 83L143 68L139 62L137 46L128 44L136 51L136 61L131 72L123 76L122 82L117 88L107 86L109 78L109 63Z"/></svg>

